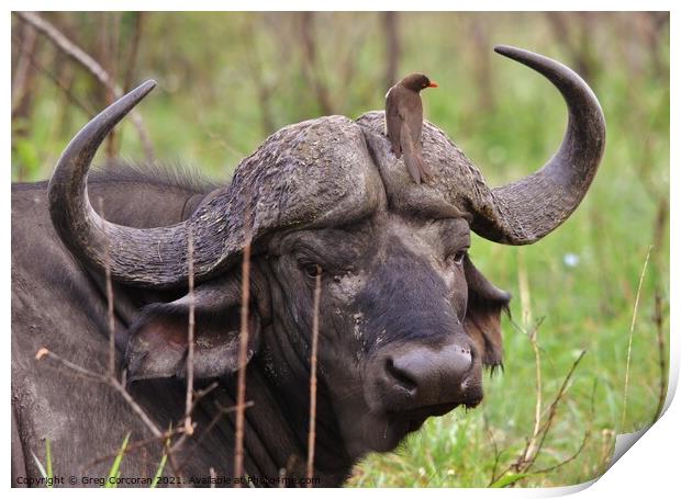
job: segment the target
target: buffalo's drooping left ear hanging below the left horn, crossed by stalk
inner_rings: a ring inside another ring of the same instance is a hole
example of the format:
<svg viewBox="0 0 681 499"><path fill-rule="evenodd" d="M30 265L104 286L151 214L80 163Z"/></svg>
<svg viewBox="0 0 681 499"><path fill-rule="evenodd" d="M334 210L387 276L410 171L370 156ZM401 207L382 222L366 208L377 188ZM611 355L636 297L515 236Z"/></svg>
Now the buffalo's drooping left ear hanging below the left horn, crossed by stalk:
<svg viewBox="0 0 681 499"><path fill-rule="evenodd" d="M194 290L194 377L209 378L238 370L241 294L237 280L203 283ZM189 295L143 308L129 330L127 379L185 377L189 329ZM248 354L260 340L260 318L249 307Z"/></svg>

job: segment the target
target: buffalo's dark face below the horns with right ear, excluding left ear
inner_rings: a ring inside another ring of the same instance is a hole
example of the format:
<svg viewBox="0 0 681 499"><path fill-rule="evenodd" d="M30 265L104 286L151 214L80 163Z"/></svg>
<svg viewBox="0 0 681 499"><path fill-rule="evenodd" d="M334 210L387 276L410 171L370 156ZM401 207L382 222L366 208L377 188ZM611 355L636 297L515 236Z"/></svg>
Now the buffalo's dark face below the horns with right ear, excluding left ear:
<svg viewBox="0 0 681 499"><path fill-rule="evenodd" d="M481 400L482 365L501 363L499 315L509 296L477 272L469 246L464 218L381 209L347 227L270 241L281 311L261 348L304 384L321 270L321 396L350 456L391 450L427 417ZM282 348L286 331L297 334Z"/></svg>

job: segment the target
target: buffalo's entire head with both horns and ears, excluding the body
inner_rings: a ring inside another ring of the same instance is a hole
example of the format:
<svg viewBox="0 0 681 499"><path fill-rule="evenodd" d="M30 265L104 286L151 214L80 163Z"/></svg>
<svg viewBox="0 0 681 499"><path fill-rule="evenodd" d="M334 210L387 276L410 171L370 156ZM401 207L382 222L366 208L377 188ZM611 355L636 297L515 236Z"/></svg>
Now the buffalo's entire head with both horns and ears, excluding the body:
<svg viewBox="0 0 681 499"><path fill-rule="evenodd" d="M414 184L390 152L383 114L372 112L277 132L242 161L230 185L177 225L114 225L91 207L86 177L105 135L153 89L147 82L94 117L65 150L49 184L54 225L91 268L101 271L110 254L119 283L175 297L187 285L191 233L198 377L236 370L236 263L250 240L249 359L275 392L286 393L289 419L303 431L321 272L320 432L337 430L353 458L390 450L428 416L476 406L482 366L502 361L500 314L509 295L475 268L469 231L507 245L537 241L577 208L603 152L601 107L574 72L517 48L496 50L544 75L569 112L554 157L510 185L488 188L427 123L423 157L433 178ZM188 309L188 296L142 309L129 331L131 378L185 374Z"/></svg>

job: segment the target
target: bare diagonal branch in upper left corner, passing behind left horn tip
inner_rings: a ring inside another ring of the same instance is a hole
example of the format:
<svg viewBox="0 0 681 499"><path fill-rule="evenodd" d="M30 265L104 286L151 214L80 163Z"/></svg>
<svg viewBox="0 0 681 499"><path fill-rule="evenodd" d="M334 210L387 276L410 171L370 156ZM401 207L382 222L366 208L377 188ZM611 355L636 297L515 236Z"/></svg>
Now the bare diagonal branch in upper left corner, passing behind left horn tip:
<svg viewBox="0 0 681 499"><path fill-rule="evenodd" d="M102 66L94 60L82 48L77 46L70 39L68 39L55 25L36 14L35 12L14 12L22 21L32 25L35 30L43 33L57 48L69 56L71 59L80 64L86 68L97 80L102 83L109 91L111 91L115 98L123 95L123 90L115 83L113 78L102 68ZM154 147L152 140L144 127L142 116L135 110L130 113L132 123L137 128L139 135L139 141L144 147L145 155L148 161L154 161Z"/></svg>

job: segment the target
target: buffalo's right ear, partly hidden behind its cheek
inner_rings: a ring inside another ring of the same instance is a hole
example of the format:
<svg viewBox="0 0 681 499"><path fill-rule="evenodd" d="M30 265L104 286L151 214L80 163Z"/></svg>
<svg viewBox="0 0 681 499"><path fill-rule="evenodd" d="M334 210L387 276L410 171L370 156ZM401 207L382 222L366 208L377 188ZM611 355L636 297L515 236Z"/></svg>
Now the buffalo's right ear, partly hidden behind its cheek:
<svg viewBox="0 0 681 499"><path fill-rule="evenodd" d="M501 313L509 313L511 295L490 283L468 257L464 260L468 306L464 328L476 342L487 366L502 365Z"/></svg>

